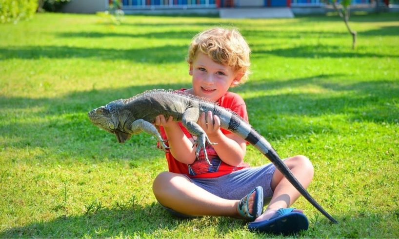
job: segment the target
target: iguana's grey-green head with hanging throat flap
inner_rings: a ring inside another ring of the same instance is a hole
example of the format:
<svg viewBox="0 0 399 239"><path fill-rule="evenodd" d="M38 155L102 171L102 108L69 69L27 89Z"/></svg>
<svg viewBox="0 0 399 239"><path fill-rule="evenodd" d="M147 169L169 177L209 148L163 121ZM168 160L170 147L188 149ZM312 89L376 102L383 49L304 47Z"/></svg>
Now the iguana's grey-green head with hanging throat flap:
<svg viewBox="0 0 399 239"><path fill-rule="evenodd" d="M119 127L119 120L118 117L112 113L111 103L90 111L88 116L94 125L97 125L100 129L108 131L111 134L115 134L118 142L124 143L127 139L130 139L132 135L124 132L123 128Z"/></svg>

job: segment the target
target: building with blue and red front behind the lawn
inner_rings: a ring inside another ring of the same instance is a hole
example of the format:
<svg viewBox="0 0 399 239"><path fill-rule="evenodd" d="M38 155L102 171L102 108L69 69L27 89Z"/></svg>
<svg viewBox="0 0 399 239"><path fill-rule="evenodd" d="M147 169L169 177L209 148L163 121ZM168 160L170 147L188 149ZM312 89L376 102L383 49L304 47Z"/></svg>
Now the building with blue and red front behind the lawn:
<svg viewBox="0 0 399 239"><path fill-rule="evenodd" d="M114 0L73 0L63 12L105 11ZM294 17L294 14L323 14L330 11L322 0L120 0L125 14L208 14L224 18ZM354 8L374 10L375 0L352 0ZM388 6L390 0L379 0ZM397 0L391 0L397 1ZM290 12L290 13L289 13ZM240 14L239 14L240 13ZM292 14L294 13L294 14Z"/></svg>

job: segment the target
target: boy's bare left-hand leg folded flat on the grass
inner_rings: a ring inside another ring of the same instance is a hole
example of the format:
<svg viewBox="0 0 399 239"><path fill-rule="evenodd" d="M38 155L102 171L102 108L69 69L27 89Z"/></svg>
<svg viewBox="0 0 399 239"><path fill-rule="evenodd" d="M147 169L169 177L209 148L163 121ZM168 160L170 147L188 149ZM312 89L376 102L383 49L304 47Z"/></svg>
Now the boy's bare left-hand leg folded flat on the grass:
<svg viewBox="0 0 399 239"><path fill-rule="evenodd" d="M239 200L222 199L180 174L160 173L154 180L153 191L160 204L182 214L240 217L237 211ZM248 202L250 213L252 213L254 197L255 193L251 195Z"/></svg>

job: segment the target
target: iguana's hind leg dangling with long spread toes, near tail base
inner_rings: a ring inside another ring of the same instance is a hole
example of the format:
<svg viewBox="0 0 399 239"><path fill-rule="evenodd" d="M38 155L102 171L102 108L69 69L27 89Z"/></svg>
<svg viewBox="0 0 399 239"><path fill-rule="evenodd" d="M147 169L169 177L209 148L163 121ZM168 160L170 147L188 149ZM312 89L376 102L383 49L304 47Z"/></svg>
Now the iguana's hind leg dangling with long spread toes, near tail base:
<svg viewBox="0 0 399 239"><path fill-rule="evenodd" d="M188 108L186 111L184 111L183 116L181 118L181 123L183 124L184 127L190 132L190 134L194 135L197 137L197 140L195 141L195 145L197 145L196 149L196 156L198 158L199 152L201 150L204 152L205 155L205 160L209 165L212 165L212 163L208 159L208 154L206 153L205 150L205 142L208 144L216 144L212 143L208 136L206 135L205 131L199 126L196 122L199 118L199 110L196 108ZM194 147L194 145L193 145Z"/></svg>

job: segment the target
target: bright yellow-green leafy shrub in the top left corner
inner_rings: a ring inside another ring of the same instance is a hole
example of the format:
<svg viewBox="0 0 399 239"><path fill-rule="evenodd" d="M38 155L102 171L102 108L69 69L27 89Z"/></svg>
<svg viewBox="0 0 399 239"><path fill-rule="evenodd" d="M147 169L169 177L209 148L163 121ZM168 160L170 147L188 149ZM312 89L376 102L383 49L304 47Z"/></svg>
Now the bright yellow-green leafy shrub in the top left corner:
<svg viewBox="0 0 399 239"><path fill-rule="evenodd" d="M30 19L38 8L37 0L0 0L0 22Z"/></svg>

